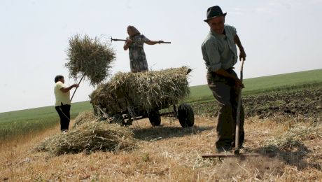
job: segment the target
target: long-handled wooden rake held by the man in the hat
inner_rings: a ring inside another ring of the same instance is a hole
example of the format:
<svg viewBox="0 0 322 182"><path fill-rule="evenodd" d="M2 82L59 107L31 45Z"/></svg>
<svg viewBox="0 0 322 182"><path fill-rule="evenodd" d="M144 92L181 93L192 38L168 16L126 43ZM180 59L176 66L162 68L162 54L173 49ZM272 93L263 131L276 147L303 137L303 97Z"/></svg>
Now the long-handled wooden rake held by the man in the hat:
<svg viewBox="0 0 322 182"><path fill-rule="evenodd" d="M240 80L243 81L243 67L244 59L241 60ZM240 126L240 109L241 109L241 89L239 90L238 105L237 105L237 119L235 132L235 151L233 153L208 153L202 155L202 158L230 158L230 157L245 157L245 156L259 156L258 153L239 153L239 126Z"/></svg>

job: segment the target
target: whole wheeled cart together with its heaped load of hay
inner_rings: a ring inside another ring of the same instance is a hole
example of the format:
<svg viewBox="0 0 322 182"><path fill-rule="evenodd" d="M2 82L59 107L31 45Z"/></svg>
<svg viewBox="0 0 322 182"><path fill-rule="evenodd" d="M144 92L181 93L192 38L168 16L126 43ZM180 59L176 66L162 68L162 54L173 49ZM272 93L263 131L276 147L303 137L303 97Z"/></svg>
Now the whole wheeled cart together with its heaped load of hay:
<svg viewBox="0 0 322 182"><path fill-rule="evenodd" d="M194 124L193 109L189 104L179 104L190 94L188 73L191 69L163 69L140 73L116 73L109 82L101 84L90 94L97 114L110 117L130 125L133 120L149 118L151 125L158 126L161 116L179 118L182 127ZM160 113L162 109L173 111Z"/></svg>

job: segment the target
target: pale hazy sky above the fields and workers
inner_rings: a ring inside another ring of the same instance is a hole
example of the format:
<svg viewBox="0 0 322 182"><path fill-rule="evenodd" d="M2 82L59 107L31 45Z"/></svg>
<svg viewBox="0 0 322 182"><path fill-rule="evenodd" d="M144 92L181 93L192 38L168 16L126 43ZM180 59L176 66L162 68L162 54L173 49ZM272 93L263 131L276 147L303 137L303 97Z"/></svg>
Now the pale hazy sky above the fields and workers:
<svg viewBox="0 0 322 182"><path fill-rule="evenodd" d="M172 42L144 45L151 70L190 66L190 85L207 84L201 44L209 26L203 20L215 5L228 13L225 23L236 27L244 45L244 78L322 68L322 0L0 0L0 112L53 106L55 76L75 83L64 67L69 38L125 38L127 25ZM123 42L111 46L111 73L130 71ZM92 90L80 83L73 102L89 100Z"/></svg>

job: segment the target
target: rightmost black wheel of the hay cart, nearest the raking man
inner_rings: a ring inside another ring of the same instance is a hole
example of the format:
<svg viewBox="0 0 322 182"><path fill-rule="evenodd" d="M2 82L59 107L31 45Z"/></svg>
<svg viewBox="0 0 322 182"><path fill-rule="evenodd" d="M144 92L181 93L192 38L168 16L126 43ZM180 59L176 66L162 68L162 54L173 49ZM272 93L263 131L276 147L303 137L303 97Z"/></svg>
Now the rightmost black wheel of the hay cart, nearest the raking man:
<svg viewBox="0 0 322 182"><path fill-rule="evenodd" d="M180 104L178 108L178 119L181 127L192 127L195 123L195 114L189 104Z"/></svg>

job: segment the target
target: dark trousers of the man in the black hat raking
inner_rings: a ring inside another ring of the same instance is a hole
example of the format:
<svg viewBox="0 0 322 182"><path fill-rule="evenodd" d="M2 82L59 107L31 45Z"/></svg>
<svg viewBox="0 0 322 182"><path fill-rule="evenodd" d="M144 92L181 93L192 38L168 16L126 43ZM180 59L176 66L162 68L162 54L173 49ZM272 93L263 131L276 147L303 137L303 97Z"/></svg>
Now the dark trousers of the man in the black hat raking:
<svg viewBox="0 0 322 182"><path fill-rule="evenodd" d="M228 73L237 77L232 69L227 69ZM219 103L220 110L218 113L216 148L228 150L235 147L235 131L238 106L239 89L235 86L235 80L225 78L213 71L207 72L207 81L214 97ZM239 126L239 145L244 142L244 107L240 109L240 126Z"/></svg>

